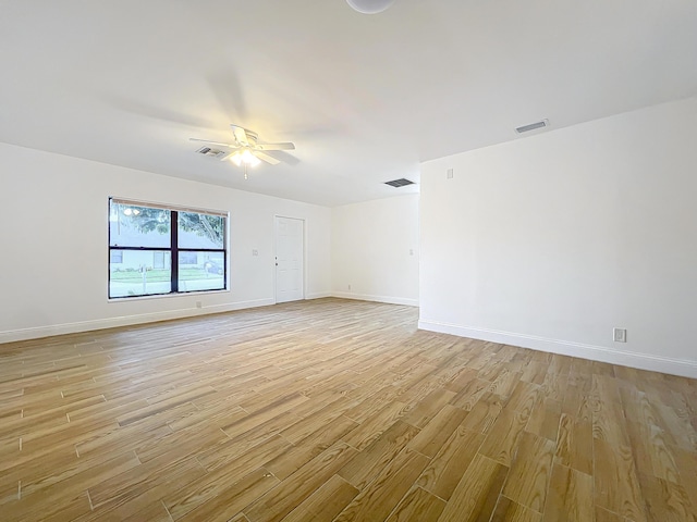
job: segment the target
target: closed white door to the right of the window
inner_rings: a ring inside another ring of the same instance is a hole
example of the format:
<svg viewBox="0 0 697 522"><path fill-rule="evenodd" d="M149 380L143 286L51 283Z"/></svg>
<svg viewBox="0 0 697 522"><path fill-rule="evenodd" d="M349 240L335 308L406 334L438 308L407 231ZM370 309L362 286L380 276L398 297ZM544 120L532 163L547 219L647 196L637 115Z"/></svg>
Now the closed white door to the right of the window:
<svg viewBox="0 0 697 522"><path fill-rule="evenodd" d="M276 302L303 299L303 220L276 216Z"/></svg>

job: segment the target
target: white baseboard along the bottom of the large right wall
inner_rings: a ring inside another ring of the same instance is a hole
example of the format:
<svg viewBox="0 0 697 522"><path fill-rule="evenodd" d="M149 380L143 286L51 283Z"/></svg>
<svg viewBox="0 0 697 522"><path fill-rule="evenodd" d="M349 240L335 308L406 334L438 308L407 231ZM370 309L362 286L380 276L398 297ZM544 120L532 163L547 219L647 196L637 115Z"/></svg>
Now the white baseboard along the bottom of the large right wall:
<svg viewBox="0 0 697 522"><path fill-rule="evenodd" d="M687 359L671 359L667 357L638 353L635 351L614 350L602 346L549 339L546 337L516 334L512 332L458 326L438 321L420 320L418 322L418 327L430 332L456 335L458 337L469 337L490 343L521 346L523 348L548 351L562 356L578 357L580 359L609 362L611 364L631 366L639 370L649 370L652 372L670 373L671 375L697 378L697 361Z"/></svg>

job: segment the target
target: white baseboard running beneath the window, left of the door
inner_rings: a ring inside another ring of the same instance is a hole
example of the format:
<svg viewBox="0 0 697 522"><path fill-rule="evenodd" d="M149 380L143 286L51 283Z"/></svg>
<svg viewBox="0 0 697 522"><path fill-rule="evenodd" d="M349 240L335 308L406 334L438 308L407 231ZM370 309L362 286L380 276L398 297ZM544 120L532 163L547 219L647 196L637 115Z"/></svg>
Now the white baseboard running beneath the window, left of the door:
<svg viewBox="0 0 697 522"><path fill-rule="evenodd" d="M225 304L213 304L204 308L185 308L180 310L168 310L163 312L139 313L136 315L121 315L117 318L96 319L93 321L80 321L75 323L51 324L47 326L36 326L22 330L10 330L0 332L0 344L13 343L15 340L38 339L51 335L76 334L78 332L90 332L93 330L114 328L118 326L130 326L132 324L155 323L157 321L169 321L171 319L193 318L210 313L231 312L246 308L267 307L274 304L273 299L256 299L253 301L240 301Z"/></svg>

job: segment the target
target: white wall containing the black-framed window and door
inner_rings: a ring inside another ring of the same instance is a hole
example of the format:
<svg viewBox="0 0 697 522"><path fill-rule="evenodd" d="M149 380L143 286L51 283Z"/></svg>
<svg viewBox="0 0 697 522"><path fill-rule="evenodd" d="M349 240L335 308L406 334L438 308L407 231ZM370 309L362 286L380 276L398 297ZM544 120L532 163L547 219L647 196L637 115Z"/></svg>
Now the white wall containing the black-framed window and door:
<svg viewBox="0 0 697 522"><path fill-rule="evenodd" d="M109 196L229 211L231 291L109 302ZM328 208L0 144L0 341L273 303L274 214L305 220L305 297L330 295Z"/></svg>

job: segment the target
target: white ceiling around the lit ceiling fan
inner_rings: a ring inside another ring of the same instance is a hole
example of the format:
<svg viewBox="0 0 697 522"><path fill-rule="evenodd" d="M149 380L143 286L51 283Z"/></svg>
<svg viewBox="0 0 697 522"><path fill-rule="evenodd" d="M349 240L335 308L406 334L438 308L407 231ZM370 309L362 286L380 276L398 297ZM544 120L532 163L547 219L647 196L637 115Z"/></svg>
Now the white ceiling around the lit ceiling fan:
<svg viewBox="0 0 697 522"><path fill-rule="evenodd" d="M0 0L0 141L326 206L697 95L695 0ZM294 141L244 181L188 137ZM524 139L524 138L518 138ZM2 183L11 183L2 173Z"/></svg>

